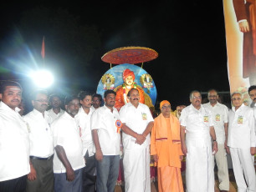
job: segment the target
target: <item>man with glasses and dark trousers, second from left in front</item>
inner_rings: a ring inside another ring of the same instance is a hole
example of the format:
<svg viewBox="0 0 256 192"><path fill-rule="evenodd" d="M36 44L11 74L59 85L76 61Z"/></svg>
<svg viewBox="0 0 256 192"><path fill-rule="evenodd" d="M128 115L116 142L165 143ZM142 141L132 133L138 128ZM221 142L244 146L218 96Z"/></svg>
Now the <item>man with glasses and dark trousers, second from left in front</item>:
<svg viewBox="0 0 256 192"><path fill-rule="evenodd" d="M33 111L23 119L28 125L30 144L30 173L28 174L27 192L54 191L54 141L50 128L48 93L36 90L32 93Z"/></svg>

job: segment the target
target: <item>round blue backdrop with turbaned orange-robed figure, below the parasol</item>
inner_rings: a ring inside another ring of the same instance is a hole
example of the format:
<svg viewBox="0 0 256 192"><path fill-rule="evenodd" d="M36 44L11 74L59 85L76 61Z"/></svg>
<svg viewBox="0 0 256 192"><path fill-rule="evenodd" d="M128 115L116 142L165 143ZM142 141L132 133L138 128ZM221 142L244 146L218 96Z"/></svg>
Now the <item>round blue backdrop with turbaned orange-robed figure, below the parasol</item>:
<svg viewBox="0 0 256 192"><path fill-rule="evenodd" d="M157 95L154 80L146 70L133 64L119 64L106 71L100 79L97 93L103 97L105 90L114 90L116 92L115 108L120 110L129 102L127 93L131 88L139 90L142 104L146 104L150 109L154 108Z"/></svg>

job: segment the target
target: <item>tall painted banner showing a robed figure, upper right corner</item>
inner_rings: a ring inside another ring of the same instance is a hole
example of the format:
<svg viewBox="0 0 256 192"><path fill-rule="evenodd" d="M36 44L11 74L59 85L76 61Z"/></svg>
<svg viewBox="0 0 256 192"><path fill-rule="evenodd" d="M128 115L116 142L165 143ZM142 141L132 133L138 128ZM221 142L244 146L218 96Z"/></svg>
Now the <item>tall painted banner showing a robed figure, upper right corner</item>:
<svg viewBox="0 0 256 192"><path fill-rule="evenodd" d="M256 0L223 0L228 79L231 93L243 93L251 101L248 87L256 84Z"/></svg>

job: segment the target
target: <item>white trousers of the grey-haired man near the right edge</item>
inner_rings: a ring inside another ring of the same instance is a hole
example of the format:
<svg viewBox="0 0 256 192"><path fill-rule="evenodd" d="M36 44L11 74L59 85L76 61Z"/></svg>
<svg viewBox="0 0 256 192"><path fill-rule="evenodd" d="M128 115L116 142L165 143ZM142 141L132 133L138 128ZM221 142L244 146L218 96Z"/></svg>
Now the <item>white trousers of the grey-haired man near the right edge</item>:
<svg viewBox="0 0 256 192"><path fill-rule="evenodd" d="M254 156L251 155L250 149L229 149L232 158L233 173L238 185L238 192L255 192L256 178Z"/></svg>

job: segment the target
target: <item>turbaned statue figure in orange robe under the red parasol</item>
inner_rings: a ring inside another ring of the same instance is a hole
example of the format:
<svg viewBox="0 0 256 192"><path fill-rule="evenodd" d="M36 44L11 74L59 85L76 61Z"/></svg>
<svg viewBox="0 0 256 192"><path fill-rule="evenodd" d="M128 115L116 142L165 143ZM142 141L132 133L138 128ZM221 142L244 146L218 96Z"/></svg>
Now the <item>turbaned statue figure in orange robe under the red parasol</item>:
<svg viewBox="0 0 256 192"><path fill-rule="evenodd" d="M134 82L135 75L133 71L131 71L129 68L126 68L123 72L123 79L124 83L122 84L121 88L118 88L116 90L116 97L115 97L115 109L118 111L122 106L129 103L129 99L127 98L127 93L131 90L131 88L136 88L140 93L140 103L145 104L144 99L144 91L142 88L139 88L137 84Z"/></svg>

